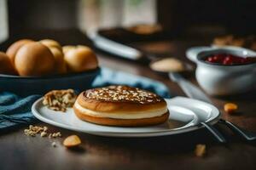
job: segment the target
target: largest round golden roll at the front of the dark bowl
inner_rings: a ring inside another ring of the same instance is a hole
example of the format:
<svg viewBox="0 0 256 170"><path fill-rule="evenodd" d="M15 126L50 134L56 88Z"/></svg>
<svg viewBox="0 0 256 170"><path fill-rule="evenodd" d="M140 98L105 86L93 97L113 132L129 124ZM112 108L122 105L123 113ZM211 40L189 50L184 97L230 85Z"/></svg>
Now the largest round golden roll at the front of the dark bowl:
<svg viewBox="0 0 256 170"><path fill-rule="evenodd" d="M44 76L55 73L55 58L40 42L23 45L15 56L15 68L20 76Z"/></svg>

